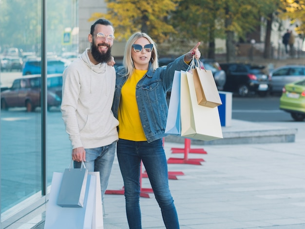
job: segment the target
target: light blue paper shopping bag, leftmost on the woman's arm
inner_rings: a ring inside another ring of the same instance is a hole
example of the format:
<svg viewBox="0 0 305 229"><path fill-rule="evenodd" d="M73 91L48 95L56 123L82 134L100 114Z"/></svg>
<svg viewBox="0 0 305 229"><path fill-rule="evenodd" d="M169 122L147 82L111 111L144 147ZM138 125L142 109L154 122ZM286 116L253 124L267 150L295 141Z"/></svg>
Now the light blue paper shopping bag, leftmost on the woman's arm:
<svg viewBox="0 0 305 229"><path fill-rule="evenodd" d="M169 112L166 121L165 133L172 135L181 134L180 116L180 71L175 71L172 81L172 91Z"/></svg>

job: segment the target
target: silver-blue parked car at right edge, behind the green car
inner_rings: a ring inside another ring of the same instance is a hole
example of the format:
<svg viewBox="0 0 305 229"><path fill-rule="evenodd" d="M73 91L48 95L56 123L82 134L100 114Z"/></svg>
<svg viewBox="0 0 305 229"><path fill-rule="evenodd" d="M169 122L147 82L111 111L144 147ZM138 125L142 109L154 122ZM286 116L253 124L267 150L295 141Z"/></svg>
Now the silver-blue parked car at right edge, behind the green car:
<svg viewBox="0 0 305 229"><path fill-rule="evenodd" d="M305 79L305 65L281 66L269 73L271 93L281 93L287 83Z"/></svg>

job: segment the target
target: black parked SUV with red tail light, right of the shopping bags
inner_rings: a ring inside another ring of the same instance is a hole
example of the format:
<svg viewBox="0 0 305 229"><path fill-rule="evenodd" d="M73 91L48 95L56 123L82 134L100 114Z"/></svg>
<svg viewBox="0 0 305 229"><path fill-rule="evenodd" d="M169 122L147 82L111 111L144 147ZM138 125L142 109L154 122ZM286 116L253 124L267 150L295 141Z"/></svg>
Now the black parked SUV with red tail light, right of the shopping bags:
<svg viewBox="0 0 305 229"><path fill-rule="evenodd" d="M237 92L239 96L268 94L270 82L265 73L265 66L250 63L220 63L220 67L227 76L224 91Z"/></svg>

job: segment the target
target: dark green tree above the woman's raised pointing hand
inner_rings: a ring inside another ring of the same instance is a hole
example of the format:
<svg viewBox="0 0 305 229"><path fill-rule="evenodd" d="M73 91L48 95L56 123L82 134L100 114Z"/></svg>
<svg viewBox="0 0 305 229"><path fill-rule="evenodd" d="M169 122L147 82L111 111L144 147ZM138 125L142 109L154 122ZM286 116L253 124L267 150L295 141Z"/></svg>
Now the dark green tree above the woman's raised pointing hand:
<svg viewBox="0 0 305 229"><path fill-rule="evenodd" d="M220 0L183 0L173 12L170 23L178 31L173 34L175 47L191 48L192 42L203 43L203 55L215 58L215 39L225 39L221 21Z"/></svg>

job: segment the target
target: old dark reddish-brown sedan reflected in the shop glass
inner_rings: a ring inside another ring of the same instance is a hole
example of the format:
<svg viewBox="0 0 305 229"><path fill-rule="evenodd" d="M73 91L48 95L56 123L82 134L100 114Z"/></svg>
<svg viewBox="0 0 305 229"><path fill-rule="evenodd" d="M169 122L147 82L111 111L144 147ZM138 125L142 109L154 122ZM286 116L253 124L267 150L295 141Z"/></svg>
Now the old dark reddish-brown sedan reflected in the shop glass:
<svg viewBox="0 0 305 229"><path fill-rule="evenodd" d="M1 91L1 109L26 107L28 112L40 106L40 75L24 76L14 80L12 87ZM62 74L51 74L47 77L47 108L61 104Z"/></svg>

